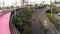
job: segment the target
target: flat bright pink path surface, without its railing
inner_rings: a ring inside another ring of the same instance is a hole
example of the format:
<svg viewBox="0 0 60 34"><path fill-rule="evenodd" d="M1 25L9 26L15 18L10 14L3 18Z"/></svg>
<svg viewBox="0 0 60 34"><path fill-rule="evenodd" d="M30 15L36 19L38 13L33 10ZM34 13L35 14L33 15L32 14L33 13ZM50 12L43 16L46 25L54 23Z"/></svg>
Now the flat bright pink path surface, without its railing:
<svg viewBox="0 0 60 34"><path fill-rule="evenodd" d="M9 29L9 20L11 12L0 17L0 34L11 34Z"/></svg>

